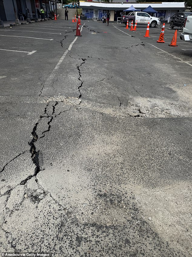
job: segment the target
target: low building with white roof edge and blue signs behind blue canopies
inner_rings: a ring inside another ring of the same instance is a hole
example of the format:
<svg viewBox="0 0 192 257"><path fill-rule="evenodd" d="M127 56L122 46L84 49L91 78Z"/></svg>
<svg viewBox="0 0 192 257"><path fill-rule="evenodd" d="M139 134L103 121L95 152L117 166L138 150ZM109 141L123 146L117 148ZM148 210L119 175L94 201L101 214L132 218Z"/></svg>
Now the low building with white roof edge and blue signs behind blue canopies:
<svg viewBox="0 0 192 257"><path fill-rule="evenodd" d="M144 10L149 5L157 11L154 16L160 18L161 21L167 21L172 15L177 12L185 11L184 2L161 2L161 3L103 3L103 2L80 2L82 14L88 19L101 20L103 15L106 15L107 10L111 14L110 21L117 21L118 17L124 13L124 10L134 6ZM127 13L128 14L128 13ZM153 15L152 15L153 16Z"/></svg>

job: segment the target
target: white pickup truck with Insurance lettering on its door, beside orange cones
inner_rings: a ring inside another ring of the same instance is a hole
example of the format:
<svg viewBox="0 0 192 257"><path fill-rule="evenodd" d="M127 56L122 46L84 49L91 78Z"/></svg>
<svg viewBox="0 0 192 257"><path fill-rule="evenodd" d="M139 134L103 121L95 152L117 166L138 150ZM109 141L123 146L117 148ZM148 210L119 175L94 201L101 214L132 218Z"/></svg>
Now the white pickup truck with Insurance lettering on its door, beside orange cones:
<svg viewBox="0 0 192 257"><path fill-rule="evenodd" d="M135 21L137 21L137 24L148 24L149 22L151 28L155 28L161 23L159 18L152 17L147 12L130 12L128 15L121 15L122 23L126 25L127 20L129 22L129 27L131 26L132 21L133 24Z"/></svg>

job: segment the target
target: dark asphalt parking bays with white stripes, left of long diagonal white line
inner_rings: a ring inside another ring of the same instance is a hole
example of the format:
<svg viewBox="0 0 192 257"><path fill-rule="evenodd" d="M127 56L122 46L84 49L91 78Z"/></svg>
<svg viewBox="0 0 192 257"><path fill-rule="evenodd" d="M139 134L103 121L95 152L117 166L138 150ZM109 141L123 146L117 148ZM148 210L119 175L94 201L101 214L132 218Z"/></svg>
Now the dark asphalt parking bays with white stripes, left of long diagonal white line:
<svg viewBox="0 0 192 257"><path fill-rule="evenodd" d="M39 86L55 67L63 47L74 39L75 25L50 20L1 28L0 54L4 65L0 75L4 78L0 94L38 95ZM23 91L26 84L29 90Z"/></svg>

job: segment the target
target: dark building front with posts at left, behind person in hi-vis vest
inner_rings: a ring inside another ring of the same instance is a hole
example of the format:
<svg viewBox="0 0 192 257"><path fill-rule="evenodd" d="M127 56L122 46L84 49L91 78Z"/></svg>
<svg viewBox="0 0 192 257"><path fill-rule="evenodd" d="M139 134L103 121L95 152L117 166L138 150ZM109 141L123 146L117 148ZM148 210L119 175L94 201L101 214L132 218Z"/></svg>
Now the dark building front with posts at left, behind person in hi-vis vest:
<svg viewBox="0 0 192 257"><path fill-rule="evenodd" d="M0 0L0 20L40 18L41 6L45 8L46 17L57 12L58 0ZM22 18L23 17L23 18ZM1 22L1 25L2 22Z"/></svg>

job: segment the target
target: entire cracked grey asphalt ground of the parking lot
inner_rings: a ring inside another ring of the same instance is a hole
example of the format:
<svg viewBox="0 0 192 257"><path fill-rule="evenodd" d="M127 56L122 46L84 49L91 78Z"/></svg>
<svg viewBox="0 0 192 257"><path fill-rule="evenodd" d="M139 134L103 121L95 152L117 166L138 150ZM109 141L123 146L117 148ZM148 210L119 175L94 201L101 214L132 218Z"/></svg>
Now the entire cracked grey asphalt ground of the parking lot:
<svg viewBox="0 0 192 257"><path fill-rule="evenodd" d="M1 29L1 252L190 257L192 52L75 29Z"/></svg>

